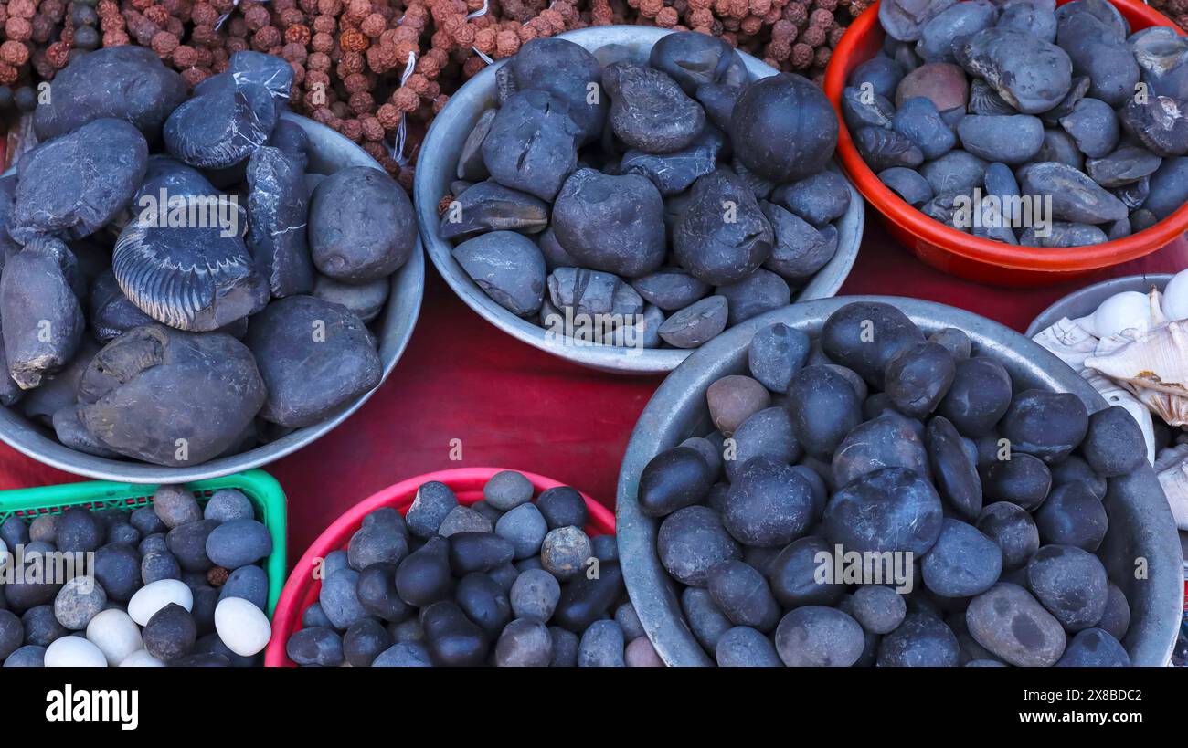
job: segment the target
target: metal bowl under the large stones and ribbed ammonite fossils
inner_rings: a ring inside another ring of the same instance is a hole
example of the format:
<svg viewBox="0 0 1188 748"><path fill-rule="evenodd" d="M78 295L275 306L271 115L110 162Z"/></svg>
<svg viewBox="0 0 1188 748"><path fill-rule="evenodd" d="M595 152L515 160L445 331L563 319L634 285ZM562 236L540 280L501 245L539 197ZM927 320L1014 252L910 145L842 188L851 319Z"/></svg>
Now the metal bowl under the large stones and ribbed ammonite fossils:
<svg viewBox="0 0 1188 748"><path fill-rule="evenodd" d="M285 113L282 116L299 125L309 135L310 172L331 175L347 166L380 167L362 148L329 127L296 114ZM412 256L392 275L391 283L392 291L379 318L377 335L380 360L384 362L380 383L371 392L360 395L343 411L317 425L298 429L253 450L211 459L192 468L166 468L133 459L107 459L75 451L58 443L49 430L26 419L19 412L19 404L13 408L0 407L0 439L33 459L59 470L127 483L188 483L266 465L315 442L342 423L383 386L384 380L396 368L396 362L412 336L425 290L425 261L419 239Z"/></svg>

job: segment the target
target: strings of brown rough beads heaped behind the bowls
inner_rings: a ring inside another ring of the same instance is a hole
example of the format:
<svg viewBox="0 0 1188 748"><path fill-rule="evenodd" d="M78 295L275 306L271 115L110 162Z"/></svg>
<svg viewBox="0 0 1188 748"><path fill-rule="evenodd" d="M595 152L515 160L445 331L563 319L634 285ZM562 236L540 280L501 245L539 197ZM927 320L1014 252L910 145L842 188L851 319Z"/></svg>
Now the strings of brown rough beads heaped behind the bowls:
<svg viewBox="0 0 1188 748"><path fill-rule="evenodd" d="M50 80L81 40L139 44L191 87L255 50L293 68L292 107L360 144L411 186L417 150L449 93L525 42L637 24L714 34L820 82L849 19L871 0L0 0L0 85ZM1161 2L1157 0L1158 7ZM1174 14L1188 0L1163 0ZM484 8L486 11L484 12ZM220 20L222 23L220 23ZM412 72L402 76L410 56ZM404 165L392 154L402 123Z"/></svg>

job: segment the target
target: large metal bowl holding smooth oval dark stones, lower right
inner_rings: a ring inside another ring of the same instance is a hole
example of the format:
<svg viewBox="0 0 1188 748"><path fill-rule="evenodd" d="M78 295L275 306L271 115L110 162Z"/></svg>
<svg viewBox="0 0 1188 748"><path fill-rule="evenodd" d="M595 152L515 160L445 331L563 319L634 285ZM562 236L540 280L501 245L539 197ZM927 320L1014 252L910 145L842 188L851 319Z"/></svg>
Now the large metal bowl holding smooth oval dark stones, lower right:
<svg viewBox="0 0 1188 748"><path fill-rule="evenodd" d="M619 471L615 526L627 592L661 658L669 665L712 665L681 611L677 584L656 553L658 522L639 512L636 492L644 465L658 452L690 436L713 430L706 389L727 374L747 372L747 347L756 331L783 322L817 335L826 318L851 302L885 302L903 310L925 332L960 328L980 355L997 359L1017 387L1072 392L1089 411L1105 407L1100 395L1038 344L985 317L917 299L841 297L796 304L767 312L727 330L689 356L664 380L627 443ZM1180 539L1151 467L1110 481L1105 499L1110 532L1098 551L1110 578L1130 601L1130 630L1123 642L1136 665L1164 665L1171 655L1183 610ZM1146 559L1149 576L1138 581L1136 558Z"/></svg>

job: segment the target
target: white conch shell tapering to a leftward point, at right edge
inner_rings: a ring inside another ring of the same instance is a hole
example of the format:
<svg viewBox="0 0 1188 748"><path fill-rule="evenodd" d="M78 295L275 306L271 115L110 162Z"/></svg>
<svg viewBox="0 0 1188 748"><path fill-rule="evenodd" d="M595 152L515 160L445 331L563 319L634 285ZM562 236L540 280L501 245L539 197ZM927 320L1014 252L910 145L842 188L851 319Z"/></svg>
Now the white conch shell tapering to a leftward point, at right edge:
<svg viewBox="0 0 1188 748"><path fill-rule="evenodd" d="M1148 389L1188 394L1188 321L1143 332L1110 354L1089 356L1085 366Z"/></svg>

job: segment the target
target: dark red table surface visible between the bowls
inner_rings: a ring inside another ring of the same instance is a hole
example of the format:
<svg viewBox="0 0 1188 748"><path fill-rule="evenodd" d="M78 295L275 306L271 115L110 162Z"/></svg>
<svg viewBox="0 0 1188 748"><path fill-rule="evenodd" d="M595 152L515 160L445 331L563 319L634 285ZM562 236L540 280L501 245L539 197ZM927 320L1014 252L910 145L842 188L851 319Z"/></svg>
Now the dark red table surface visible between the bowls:
<svg viewBox="0 0 1188 748"><path fill-rule="evenodd" d="M426 266L421 318L392 376L331 433L265 468L289 496L290 559L355 502L444 468L530 470L614 503L623 451L662 378L602 374L520 343L470 311ZM1024 330L1049 304L1095 280L1186 266L1181 239L1099 277L1048 289L991 287L921 264L870 215L842 293L929 299ZM450 458L454 439L461 461ZM0 489L75 480L0 444Z"/></svg>

